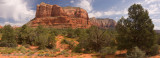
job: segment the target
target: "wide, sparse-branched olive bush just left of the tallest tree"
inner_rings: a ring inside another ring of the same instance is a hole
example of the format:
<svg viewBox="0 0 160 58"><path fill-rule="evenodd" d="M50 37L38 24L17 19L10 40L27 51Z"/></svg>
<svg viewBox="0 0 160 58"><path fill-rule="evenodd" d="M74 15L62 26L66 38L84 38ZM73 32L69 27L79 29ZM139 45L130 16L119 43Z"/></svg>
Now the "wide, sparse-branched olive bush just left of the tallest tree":
<svg viewBox="0 0 160 58"><path fill-rule="evenodd" d="M79 44L75 48L77 52L80 52L81 49L84 49L84 52L99 52L103 47L111 46L115 38L112 32L95 26L92 26L86 32L83 31L83 33L84 36L78 39Z"/></svg>

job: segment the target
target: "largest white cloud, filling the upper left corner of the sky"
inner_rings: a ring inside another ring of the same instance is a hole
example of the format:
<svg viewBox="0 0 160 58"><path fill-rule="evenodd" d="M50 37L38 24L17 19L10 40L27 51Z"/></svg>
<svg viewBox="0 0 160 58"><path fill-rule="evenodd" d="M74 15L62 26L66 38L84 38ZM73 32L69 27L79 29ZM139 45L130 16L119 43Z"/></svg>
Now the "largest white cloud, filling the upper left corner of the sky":
<svg viewBox="0 0 160 58"><path fill-rule="evenodd" d="M25 0L0 0L0 18L6 22L22 22L33 18L34 15L35 11L30 9Z"/></svg>

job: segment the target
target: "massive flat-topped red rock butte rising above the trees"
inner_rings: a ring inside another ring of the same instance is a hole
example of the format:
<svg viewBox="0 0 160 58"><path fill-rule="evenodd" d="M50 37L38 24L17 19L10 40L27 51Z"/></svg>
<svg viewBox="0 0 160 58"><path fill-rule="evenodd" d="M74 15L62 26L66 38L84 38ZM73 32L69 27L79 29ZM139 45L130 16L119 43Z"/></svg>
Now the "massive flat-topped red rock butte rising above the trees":
<svg viewBox="0 0 160 58"><path fill-rule="evenodd" d="M89 28L91 26L86 10L79 7L60 7L44 2L37 5L36 16L27 25L53 28Z"/></svg>

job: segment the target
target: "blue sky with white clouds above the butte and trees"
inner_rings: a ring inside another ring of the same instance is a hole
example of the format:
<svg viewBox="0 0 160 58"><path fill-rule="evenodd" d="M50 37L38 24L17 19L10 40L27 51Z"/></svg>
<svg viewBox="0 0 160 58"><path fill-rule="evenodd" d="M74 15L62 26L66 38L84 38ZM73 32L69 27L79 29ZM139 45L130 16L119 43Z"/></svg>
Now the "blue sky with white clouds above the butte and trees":
<svg viewBox="0 0 160 58"><path fill-rule="evenodd" d="M0 0L0 25L22 26L35 17L36 5L73 6L85 9L89 17L111 18L118 21L127 18L127 10L134 3L149 11L156 30L160 30L160 0Z"/></svg>

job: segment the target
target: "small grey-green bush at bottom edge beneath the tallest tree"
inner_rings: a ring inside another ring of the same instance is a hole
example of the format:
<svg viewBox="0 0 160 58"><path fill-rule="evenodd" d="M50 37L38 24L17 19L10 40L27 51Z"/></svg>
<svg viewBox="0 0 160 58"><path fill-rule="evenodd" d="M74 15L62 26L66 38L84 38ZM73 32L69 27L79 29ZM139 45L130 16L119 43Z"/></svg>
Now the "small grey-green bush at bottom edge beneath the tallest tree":
<svg viewBox="0 0 160 58"><path fill-rule="evenodd" d="M134 47L131 52L127 53L127 58L145 58L145 52L138 47Z"/></svg>

